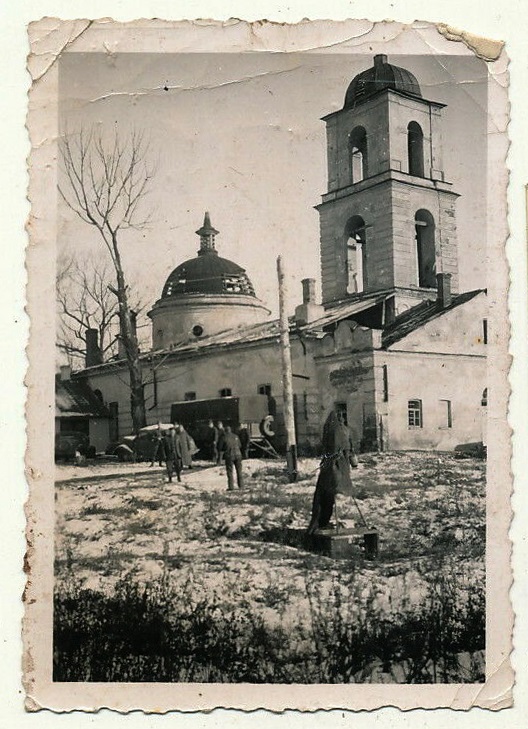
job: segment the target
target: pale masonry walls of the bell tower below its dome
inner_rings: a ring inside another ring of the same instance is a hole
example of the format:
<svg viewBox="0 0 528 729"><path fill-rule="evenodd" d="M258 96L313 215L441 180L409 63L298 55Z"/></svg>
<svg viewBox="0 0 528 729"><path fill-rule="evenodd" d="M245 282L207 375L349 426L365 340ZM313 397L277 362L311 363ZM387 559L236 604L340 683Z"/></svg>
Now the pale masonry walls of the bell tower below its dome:
<svg viewBox="0 0 528 729"><path fill-rule="evenodd" d="M407 127L423 131L425 178L410 176ZM418 288L414 216L428 210L435 220L437 271L452 275L458 291L456 195L444 183L441 106L393 91L326 118L328 192L318 206L323 303L348 292L347 221L359 215L366 230L365 291ZM367 132L368 176L351 184L349 137Z"/></svg>

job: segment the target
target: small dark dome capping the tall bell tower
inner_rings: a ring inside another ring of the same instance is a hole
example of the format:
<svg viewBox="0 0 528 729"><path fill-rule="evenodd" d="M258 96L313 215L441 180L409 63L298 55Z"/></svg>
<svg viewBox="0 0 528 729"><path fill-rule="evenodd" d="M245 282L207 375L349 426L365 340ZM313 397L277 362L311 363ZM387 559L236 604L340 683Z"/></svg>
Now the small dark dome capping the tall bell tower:
<svg viewBox="0 0 528 729"><path fill-rule="evenodd" d="M352 79L345 96L344 109L350 109L381 91L394 89L411 96L422 96L420 86L410 71L387 62L387 56L374 56L374 65Z"/></svg>

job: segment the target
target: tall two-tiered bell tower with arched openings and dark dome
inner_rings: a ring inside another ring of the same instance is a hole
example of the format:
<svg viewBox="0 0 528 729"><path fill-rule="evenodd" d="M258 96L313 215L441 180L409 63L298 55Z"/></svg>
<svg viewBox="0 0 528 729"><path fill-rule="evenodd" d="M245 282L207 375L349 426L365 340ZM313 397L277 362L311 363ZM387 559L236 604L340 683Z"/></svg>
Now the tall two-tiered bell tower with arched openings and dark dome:
<svg viewBox="0 0 528 729"><path fill-rule="evenodd" d="M326 122L328 191L320 215L323 304L393 290L396 313L458 290L455 203L442 160L444 104L415 76L374 57Z"/></svg>

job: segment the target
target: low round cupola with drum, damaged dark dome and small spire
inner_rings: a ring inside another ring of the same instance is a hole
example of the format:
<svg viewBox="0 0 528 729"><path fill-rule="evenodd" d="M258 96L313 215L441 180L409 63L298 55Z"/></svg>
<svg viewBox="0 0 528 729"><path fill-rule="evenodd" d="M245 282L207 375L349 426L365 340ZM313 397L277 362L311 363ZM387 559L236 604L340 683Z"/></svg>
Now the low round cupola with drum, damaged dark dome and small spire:
<svg viewBox="0 0 528 729"><path fill-rule="evenodd" d="M218 231L209 213L196 234L197 256L172 271L148 314L154 349L257 323L270 313L257 299L245 269L218 255Z"/></svg>

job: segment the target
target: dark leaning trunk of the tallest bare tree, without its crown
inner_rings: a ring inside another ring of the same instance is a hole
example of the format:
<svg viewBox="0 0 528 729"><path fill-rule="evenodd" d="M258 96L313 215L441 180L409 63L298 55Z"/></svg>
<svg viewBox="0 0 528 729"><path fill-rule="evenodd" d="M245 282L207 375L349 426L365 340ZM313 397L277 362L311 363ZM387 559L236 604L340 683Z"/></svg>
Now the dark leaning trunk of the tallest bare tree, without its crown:
<svg viewBox="0 0 528 729"><path fill-rule="evenodd" d="M132 326L125 277L123 269L121 268L119 254L116 256L116 274L117 298L119 301L119 325L130 377L130 408L132 423L134 433L137 433L140 428L143 428L147 424L145 393L143 391L143 374L141 370L141 361L139 359L137 335L134 327Z"/></svg>

